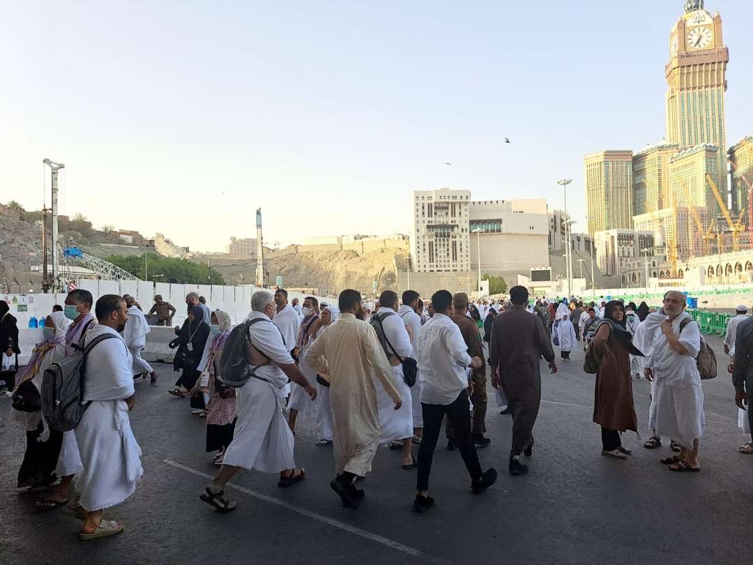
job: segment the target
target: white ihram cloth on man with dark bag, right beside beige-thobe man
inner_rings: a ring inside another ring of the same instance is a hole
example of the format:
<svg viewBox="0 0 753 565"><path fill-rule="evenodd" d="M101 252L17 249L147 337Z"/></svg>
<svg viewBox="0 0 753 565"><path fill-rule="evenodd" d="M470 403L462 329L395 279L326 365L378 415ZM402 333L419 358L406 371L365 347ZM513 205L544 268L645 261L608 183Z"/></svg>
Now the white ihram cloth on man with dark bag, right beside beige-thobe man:
<svg viewBox="0 0 753 565"><path fill-rule="evenodd" d="M387 313L392 315L385 316ZM410 357L413 354L413 346L410 344L410 337L403 320L395 313L395 310L387 307L380 308L379 316L382 319L385 337L389 344L395 348L393 352L392 348L387 346L385 353L388 359L390 356L394 357L395 353L402 359ZM374 386L377 389L380 429L382 430L381 443L413 437L413 398L410 395L410 386L407 385L403 377L403 366L392 366L390 376L392 377L392 386L395 386L395 389L400 393L402 405L400 410L395 410L395 402L387 394L382 383L379 380L374 381Z"/></svg>

